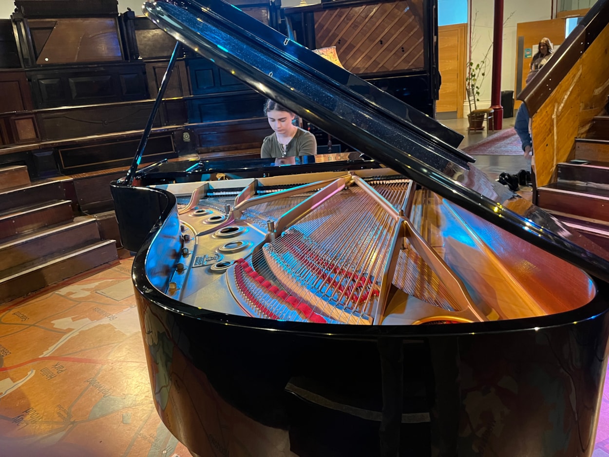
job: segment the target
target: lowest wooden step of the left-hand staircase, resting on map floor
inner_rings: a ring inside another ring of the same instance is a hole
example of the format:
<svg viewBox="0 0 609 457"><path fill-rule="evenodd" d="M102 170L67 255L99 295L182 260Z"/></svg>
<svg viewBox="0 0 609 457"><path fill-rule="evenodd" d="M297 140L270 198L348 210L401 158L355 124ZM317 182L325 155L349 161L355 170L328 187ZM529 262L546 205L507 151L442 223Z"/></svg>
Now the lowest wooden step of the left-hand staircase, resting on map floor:
<svg viewBox="0 0 609 457"><path fill-rule="evenodd" d="M5 277L0 279L0 303L24 296L117 258L114 240L108 239L9 269L5 271Z"/></svg>

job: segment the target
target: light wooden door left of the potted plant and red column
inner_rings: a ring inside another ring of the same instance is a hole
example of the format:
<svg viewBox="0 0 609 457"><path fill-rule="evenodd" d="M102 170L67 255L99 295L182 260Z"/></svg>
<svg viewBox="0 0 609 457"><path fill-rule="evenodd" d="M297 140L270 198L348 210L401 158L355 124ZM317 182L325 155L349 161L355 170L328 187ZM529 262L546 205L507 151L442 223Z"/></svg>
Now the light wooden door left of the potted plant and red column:
<svg viewBox="0 0 609 457"><path fill-rule="evenodd" d="M442 76L436 111L463 117L465 100L465 47L467 24L438 27L438 68Z"/></svg>

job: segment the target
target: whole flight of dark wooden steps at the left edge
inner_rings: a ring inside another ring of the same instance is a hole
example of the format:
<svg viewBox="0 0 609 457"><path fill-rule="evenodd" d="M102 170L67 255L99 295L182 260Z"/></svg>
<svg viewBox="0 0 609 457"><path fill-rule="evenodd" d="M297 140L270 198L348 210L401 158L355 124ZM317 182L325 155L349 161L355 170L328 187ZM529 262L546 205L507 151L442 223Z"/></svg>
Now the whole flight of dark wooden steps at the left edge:
<svg viewBox="0 0 609 457"><path fill-rule="evenodd" d="M0 303L118 258L91 216L74 217L71 178L31 183L26 166L0 168Z"/></svg>

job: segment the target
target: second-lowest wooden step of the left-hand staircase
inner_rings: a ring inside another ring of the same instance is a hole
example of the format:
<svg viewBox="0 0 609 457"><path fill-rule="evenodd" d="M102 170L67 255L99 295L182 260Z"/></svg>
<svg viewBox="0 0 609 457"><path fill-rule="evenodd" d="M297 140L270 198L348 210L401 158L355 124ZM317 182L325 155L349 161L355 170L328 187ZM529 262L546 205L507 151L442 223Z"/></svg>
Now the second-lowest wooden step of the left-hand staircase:
<svg viewBox="0 0 609 457"><path fill-rule="evenodd" d="M99 241L99 231L94 218L82 218L35 230L25 236L14 236L0 243L0 277L4 275L3 271L18 265L96 241Z"/></svg>

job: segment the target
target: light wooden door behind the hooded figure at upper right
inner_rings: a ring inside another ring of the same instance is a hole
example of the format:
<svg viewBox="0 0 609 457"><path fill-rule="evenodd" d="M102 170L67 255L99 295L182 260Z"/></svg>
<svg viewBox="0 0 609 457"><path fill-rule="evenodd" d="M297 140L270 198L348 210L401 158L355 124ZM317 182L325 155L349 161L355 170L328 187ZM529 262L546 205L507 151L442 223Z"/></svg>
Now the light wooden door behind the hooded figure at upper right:
<svg viewBox="0 0 609 457"><path fill-rule="evenodd" d="M533 46L537 46L541 38L549 38L554 46L560 46L565 40L565 19L548 19L547 21L533 21L519 23L516 25L516 49L518 49L518 40L523 39L524 49L520 54L516 51L516 79L514 81L514 93L518 93L526 86L527 75L531 65L532 55L530 57L524 57L525 49L533 49ZM518 73L518 64L522 65L522 70ZM520 83L518 81L520 80ZM515 104L515 108L518 108L519 103Z"/></svg>

